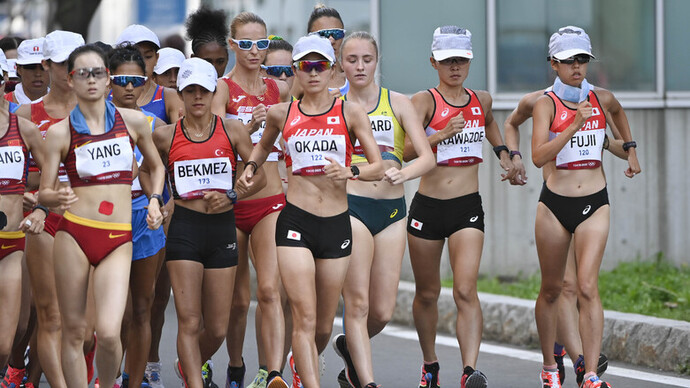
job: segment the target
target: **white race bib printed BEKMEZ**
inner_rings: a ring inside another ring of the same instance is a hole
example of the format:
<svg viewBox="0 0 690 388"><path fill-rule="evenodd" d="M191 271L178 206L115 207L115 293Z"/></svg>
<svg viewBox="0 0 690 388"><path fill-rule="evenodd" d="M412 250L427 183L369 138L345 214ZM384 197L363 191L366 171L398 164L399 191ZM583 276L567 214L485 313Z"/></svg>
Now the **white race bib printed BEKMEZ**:
<svg viewBox="0 0 690 388"><path fill-rule="evenodd" d="M232 189L230 158L207 158L175 162L175 189L181 198L204 196L204 191Z"/></svg>

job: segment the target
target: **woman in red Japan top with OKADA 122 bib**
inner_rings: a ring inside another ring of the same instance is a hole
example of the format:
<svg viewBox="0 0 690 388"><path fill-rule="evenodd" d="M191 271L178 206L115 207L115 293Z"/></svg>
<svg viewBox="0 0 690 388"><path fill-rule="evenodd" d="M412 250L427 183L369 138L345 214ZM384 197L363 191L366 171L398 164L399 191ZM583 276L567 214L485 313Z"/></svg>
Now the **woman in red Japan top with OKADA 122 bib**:
<svg viewBox="0 0 690 388"><path fill-rule="evenodd" d="M352 250L346 182L380 180L383 165L366 112L328 91L335 63L328 40L315 35L300 38L292 59L304 97L268 111L264 136L247 165L263 164L282 130L289 184L275 238L294 322L291 367L301 377L300 382L294 374L292 385L313 388L319 386L318 355L333 330ZM370 164L350 166L355 139ZM241 180L251 184L252 170L247 168ZM271 374L269 388L287 386L272 385Z"/></svg>

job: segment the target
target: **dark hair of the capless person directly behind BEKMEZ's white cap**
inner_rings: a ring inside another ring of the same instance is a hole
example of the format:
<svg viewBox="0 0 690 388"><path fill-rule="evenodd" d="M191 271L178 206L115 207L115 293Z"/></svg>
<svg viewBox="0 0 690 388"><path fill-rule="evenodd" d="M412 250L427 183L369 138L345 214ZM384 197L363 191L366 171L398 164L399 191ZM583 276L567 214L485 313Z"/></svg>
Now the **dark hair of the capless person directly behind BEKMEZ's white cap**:
<svg viewBox="0 0 690 388"><path fill-rule="evenodd" d="M192 41L194 54L207 43L217 43L221 47L228 47L230 29L227 18L225 11L214 10L207 6L201 6L189 15L184 25L187 29L187 39Z"/></svg>

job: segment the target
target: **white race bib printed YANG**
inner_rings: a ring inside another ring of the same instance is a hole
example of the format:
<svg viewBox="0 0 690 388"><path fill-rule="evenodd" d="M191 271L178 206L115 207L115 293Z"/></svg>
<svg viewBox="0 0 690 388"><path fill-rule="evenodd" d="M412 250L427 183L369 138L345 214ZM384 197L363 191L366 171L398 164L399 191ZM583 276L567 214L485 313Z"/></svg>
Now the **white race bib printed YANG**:
<svg viewBox="0 0 690 388"><path fill-rule="evenodd" d="M133 154L129 136L87 142L74 148L77 173L82 179L98 176L105 179L110 178L111 173L132 171Z"/></svg>

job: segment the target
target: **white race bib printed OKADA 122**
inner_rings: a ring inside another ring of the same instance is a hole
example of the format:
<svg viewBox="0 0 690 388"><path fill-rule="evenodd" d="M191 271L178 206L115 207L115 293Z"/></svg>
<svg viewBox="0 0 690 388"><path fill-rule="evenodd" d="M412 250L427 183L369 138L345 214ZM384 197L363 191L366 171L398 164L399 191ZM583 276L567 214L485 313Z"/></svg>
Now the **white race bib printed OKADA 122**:
<svg viewBox="0 0 690 388"><path fill-rule="evenodd" d="M292 136L288 139L294 175L321 175L332 158L345 165L345 135Z"/></svg>

